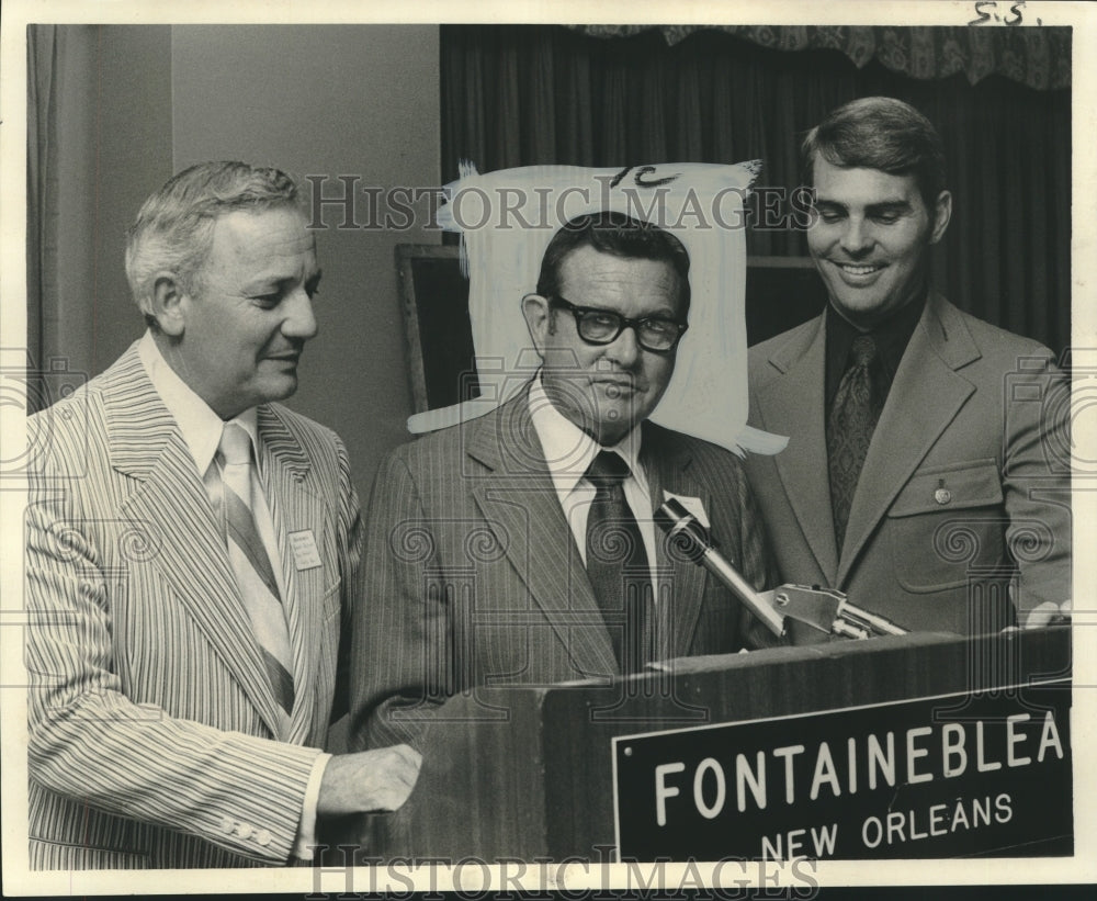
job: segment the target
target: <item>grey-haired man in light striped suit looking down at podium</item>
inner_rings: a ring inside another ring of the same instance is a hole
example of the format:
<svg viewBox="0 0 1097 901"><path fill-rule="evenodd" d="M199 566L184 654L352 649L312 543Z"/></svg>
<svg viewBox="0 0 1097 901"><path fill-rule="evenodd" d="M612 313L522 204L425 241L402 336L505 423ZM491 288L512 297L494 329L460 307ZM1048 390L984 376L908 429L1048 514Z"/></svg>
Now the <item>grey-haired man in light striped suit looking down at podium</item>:
<svg viewBox="0 0 1097 901"><path fill-rule="evenodd" d="M276 169L146 201L148 331L30 420L30 853L38 869L278 865L393 810L418 754L331 756L363 529L346 450L273 403L316 334L315 238Z"/></svg>

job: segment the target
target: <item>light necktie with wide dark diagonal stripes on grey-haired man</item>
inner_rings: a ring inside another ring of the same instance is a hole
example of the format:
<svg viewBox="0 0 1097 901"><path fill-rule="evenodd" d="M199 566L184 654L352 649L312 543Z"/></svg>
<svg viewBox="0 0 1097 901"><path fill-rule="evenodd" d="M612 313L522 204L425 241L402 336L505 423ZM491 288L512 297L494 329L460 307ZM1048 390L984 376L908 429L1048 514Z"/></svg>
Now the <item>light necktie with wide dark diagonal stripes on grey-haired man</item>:
<svg viewBox="0 0 1097 901"><path fill-rule="evenodd" d="M236 423L227 423L217 446L217 460L224 486L228 556L274 697L289 714L294 700L293 654L278 579L252 516L251 436Z"/></svg>

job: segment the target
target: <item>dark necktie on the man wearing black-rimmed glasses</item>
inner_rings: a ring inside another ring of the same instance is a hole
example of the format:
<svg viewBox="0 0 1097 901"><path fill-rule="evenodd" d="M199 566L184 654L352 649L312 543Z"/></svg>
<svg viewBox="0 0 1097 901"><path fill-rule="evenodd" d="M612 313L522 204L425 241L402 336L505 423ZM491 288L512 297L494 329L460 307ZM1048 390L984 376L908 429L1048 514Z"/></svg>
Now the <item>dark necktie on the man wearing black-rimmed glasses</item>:
<svg viewBox="0 0 1097 901"><path fill-rule="evenodd" d="M587 516L587 575L606 619L622 673L654 658L652 571L644 539L624 496L629 464L601 451L586 477L595 486Z"/></svg>

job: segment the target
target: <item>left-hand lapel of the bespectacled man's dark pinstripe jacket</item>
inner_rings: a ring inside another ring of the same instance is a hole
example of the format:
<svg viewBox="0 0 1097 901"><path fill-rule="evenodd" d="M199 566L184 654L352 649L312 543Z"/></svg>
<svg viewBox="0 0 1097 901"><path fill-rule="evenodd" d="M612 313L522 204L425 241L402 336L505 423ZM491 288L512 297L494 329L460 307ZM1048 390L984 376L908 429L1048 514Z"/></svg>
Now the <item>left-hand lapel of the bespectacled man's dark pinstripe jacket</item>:
<svg viewBox="0 0 1097 901"><path fill-rule="evenodd" d="M478 481L473 496L509 564L544 611L577 672L591 677L619 673L529 416L528 392L466 428L466 453L493 471Z"/></svg>

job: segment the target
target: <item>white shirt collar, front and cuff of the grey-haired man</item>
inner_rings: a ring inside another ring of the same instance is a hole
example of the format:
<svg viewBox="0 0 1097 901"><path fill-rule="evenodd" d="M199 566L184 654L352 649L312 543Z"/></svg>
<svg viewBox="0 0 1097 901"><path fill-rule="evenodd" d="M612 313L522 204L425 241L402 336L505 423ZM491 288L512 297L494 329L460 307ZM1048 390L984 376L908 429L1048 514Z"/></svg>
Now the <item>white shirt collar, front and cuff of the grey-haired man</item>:
<svg viewBox="0 0 1097 901"><path fill-rule="evenodd" d="M151 331L146 331L140 339L137 353L145 372L152 382L152 387L156 388L163 405L168 408L168 413L179 426L179 431L183 436L183 441L186 443L191 457L194 458L194 465L197 468L199 476L205 484L206 491L213 491L216 482L211 480L210 473L211 468L214 466L214 457L217 453L217 446L220 443L225 420L179 378L168 361L163 359L163 354L160 353ZM267 488L262 484L263 473L259 470L258 461L261 459L261 454L259 453L259 432L256 426L256 408L246 409L230 421L238 423L251 436L251 446L255 449L257 461L251 472L252 477L259 478L261 488L259 492L253 492L252 516L259 537L267 549L267 555L271 560L271 568L274 571L279 592L284 599L285 577L282 574L282 555L279 552L278 539L274 537L274 520L264 497ZM214 504L214 509L218 509L218 498L211 497L211 500ZM305 803L301 813L301 823L297 826L297 843L294 847L294 854L306 860L313 857L309 845L316 844L314 837L316 834L316 802L320 793L320 779L329 759L331 759L330 754L321 754L317 758L305 789Z"/></svg>

